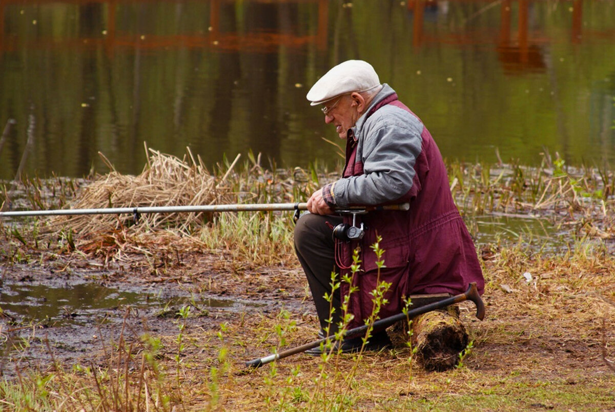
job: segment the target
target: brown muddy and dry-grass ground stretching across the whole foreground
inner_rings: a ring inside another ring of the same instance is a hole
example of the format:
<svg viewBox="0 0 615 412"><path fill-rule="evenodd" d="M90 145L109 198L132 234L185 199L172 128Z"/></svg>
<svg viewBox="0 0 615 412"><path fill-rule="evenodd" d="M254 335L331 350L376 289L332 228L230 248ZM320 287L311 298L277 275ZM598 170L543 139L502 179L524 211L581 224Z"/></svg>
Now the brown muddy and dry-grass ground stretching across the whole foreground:
<svg viewBox="0 0 615 412"><path fill-rule="evenodd" d="M433 405L438 405L435 410L472 405L494 411L615 410L615 304L608 301L613 259L502 255L482 251L485 320L474 318L470 303L461 305L461 319L474 341L464 370L429 373L411 365L408 379L407 348L368 354L354 378L361 391L352 398L351 410L415 410L420 405L432 405L427 410ZM3 301L10 288L35 284L65 288L66 294L77 285L94 284L141 297L108 308L66 307L50 319L7 311L1 320L2 373L9 379L26 370L49 370L54 362L68 370L105 365L105 353L121 335L134 342L144 334L160 337L168 348L163 357L173 365L173 342L183 322L178 311L185 305L192 307L186 319L189 344L182 354L182 379L191 388L182 402L189 410L210 407L208 373L220 367L216 359L222 346L228 348L230 370L218 389L221 410L271 410L272 399L287 396L283 388L288 382L295 379L290 386L309 394L319 376L322 363L308 355L280 361L275 376L269 365L242 373L246 360L280 347L276 325L288 331L285 347L315 338L315 311L295 261L254 267L224 253L200 251L154 259L133 254L105 263L79 253L31 252L28 262L4 261L0 270ZM534 274L533 282L523 280L524 272ZM222 340L216 338L221 330ZM343 358L336 368L351 370L352 362ZM293 398L295 406L309 409L309 396L300 395Z"/></svg>

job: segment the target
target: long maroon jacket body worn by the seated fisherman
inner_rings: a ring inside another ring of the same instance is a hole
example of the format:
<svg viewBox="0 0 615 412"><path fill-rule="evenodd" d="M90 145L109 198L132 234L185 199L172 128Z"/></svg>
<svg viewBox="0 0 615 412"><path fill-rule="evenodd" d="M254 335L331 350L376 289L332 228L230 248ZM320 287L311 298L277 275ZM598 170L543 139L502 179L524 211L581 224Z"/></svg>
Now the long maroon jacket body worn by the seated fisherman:
<svg viewBox="0 0 615 412"><path fill-rule="evenodd" d="M387 117L391 116L394 118L388 122ZM397 100L394 91L385 95L379 93L371 103L365 119L360 119L358 130L356 127L349 130L346 166L343 178L336 182L336 191L342 190L339 187L343 186L344 181L348 183L353 180L352 176L365 177L363 163L369 161L365 159L378 150L376 146L368 154L357 153L357 148L361 152L362 147L365 147L360 144L361 139L373 138L367 132L374 130L368 127L371 117L379 117L375 121L389 125L386 127L389 135L394 133L394 125L400 119L416 122L417 135L410 138L418 143L417 153L408 156L408 167L413 168L414 172L410 173L413 174L410 189L399 199L389 202L409 202L410 210L359 215L357 222L362 221L365 229L363 239L357 242L337 241L337 263L342 274L351 275L349 266L352 263L352 251L356 247L360 248L362 271L355 274L353 280L358 291L352 293L349 299L349 312L354 315L350 328L365 324L365 319L372 311L373 296L370 292L378 282L378 268L376 255L370 246L375 244L377 235L382 237L379 247L385 250L383 260L386 266L381 269L379 280L391 283L385 295L388 303L379 312L380 319L402 312L404 296L420 293L458 294L464 292L470 282L476 282L478 291L483 293L485 285L474 243L451 196L442 155L427 128L407 106ZM407 135L405 130L399 138L407 138ZM400 146L404 147L403 144ZM389 154L387 156L390 157ZM345 190L351 191L350 188ZM339 197L343 193L340 191ZM346 223L352 223L351 217L344 219ZM348 291L349 283L342 282L342 296L347 296Z"/></svg>

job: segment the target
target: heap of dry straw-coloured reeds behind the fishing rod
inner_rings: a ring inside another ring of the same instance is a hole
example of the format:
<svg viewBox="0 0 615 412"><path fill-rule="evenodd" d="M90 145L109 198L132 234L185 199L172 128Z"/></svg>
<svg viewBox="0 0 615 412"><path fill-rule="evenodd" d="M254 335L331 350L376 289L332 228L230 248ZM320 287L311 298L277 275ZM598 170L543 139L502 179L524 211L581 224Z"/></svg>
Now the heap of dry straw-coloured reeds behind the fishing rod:
<svg viewBox="0 0 615 412"><path fill-rule="evenodd" d="M224 179L208 173L200 157L194 159L188 149L183 159L162 154L146 147L147 164L140 175L122 175L101 154L111 172L87 186L71 208L109 207L164 207L182 205L223 204L232 201ZM122 245L127 239L142 238L156 232L173 236L189 236L210 219L205 213L148 213L130 215L74 215L54 216L47 231L65 237L76 234L84 245L81 250L91 251L103 246ZM196 241L196 239L193 239Z"/></svg>

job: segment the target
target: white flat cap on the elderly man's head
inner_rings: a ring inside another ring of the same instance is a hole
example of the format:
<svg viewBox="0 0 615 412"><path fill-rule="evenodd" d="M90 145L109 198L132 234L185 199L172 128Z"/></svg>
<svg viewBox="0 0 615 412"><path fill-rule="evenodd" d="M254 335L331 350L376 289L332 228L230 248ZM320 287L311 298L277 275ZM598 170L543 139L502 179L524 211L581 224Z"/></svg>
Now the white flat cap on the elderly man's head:
<svg viewBox="0 0 615 412"><path fill-rule="evenodd" d="M374 68L363 60L347 60L331 68L309 90L311 106L320 105L334 97L352 92L366 92L380 85Z"/></svg>

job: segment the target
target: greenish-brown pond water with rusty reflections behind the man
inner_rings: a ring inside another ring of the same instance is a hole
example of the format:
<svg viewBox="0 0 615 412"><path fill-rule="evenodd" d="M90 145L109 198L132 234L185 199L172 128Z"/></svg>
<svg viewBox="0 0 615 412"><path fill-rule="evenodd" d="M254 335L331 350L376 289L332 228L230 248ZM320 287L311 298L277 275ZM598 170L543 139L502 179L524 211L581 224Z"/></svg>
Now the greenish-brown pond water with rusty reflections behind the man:
<svg viewBox="0 0 615 412"><path fill-rule="evenodd" d="M614 0L1 0L0 179L139 173L144 142L335 165L305 95L351 58L450 159L615 161Z"/></svg>

